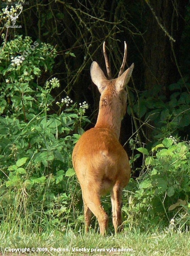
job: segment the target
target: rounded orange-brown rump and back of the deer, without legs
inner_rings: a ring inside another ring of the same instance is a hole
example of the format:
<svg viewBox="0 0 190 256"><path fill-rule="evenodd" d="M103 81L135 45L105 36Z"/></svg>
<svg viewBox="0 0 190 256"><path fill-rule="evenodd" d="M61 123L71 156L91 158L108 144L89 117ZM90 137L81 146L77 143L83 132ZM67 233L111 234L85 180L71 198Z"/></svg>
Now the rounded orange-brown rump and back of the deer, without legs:
<svg viewBox="0 0 190 256"><path fill-rule="evenodd" d="M130 178L127 153L106 128L91 128L81 136L73 151L73 166L82 190L94 188L100 196L110 192L115 182L123 189Z"/></svg>

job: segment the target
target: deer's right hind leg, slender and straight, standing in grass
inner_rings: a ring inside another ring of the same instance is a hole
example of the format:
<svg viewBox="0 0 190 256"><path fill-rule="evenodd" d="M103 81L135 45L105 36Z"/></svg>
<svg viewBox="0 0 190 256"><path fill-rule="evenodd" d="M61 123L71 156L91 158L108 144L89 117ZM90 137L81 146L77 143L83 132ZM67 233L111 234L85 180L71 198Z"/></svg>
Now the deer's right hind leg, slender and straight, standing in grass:
<svg viewBox="0 0 190 256"><path fill-rule="evenodd" d="M113 225L115 233L118 232L118 228L122 229L121 223L121 206L122 206L122 190L118 185L115 185L111 192L111 202L112 202L112 215L113 215Z"/></svg>

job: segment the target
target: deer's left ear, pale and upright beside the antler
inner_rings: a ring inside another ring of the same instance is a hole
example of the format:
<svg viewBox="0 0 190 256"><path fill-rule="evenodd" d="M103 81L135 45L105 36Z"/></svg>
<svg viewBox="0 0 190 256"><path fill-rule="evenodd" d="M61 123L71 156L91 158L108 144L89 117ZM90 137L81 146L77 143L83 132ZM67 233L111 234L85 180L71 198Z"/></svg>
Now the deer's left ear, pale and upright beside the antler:
<svg viewBox="0 0 190 256"><path fill-rule="evenodd" d="M93 83L95 83L99 92L102 93L107 85L108 79L96 61L92 62L90 67L90 75Z"/></svg>

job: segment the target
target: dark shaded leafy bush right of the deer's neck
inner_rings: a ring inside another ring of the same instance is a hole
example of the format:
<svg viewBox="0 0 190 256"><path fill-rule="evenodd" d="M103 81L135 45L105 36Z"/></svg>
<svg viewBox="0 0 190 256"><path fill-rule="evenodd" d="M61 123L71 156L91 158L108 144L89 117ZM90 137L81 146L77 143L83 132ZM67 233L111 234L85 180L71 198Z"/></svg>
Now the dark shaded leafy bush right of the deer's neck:
<svg viewBox="0 0 190 256"><path fill-rule="evenodd" d="M134 112L139 119L149 120L155 127L152 138L158 140L170 135L189 134L190 127L190 83L188 77L168 87L168 98L162 94L162 87L155 86L150 92L139 94L134 102ZM130 114L130 106L128 107Z"/></svg>

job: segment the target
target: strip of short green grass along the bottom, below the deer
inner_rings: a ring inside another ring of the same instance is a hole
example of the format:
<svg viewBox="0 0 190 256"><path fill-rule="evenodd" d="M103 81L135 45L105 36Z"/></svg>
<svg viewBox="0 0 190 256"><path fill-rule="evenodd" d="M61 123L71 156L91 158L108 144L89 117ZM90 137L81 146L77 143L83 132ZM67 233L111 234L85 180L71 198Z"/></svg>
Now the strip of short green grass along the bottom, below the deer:
<svg viewBox="0 0 190 256"><path fill-rule="evenodd" d="M131 232L123 232L116 236L101 235L91 231L84 235L83 231L73 232L65 230L62 232L52 231L48 233L26 234L24 231L0 226L1 255L19 255L18 253L5 253L5 248L47 248L50 252L35 252L27 255L55 255L55 256L190 256L190 233L180 233L173 230L162 232L140 232L139 229ZM53 249L68 249L65 251L54 251ZM73 251L74 248L83 251ZM89 252L84 251L89 249ZM113 249L112 249L113 248ZM133 249L130 252L118 252L115 249ZM96 251L95 251L96 249ZM98 250L99 249L99 250ZM112 249L111 252L100 251L100 249Z"/></svg>

